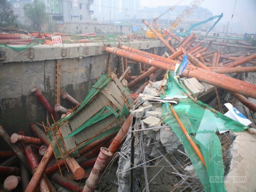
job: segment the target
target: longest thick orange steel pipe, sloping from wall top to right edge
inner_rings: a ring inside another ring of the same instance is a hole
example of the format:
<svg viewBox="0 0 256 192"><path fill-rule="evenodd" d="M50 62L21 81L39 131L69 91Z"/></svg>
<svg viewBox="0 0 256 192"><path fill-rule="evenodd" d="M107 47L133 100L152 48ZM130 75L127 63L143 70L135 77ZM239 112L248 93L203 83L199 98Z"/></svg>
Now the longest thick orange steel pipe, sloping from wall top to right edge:
<svg viewBox="0 0 256 192"><path fill-rule="evenodd" d="M148 64L154 67L158 67L160 69L165 70L175 70L175 63L166 64L164 62L156 61L154 59L145 58L139 55L135 55L132 53L126 53L122 50L117 48L106 48L107 53L112 53L121 57L125 57L131 60L135 60L144 64ZM198 60L198 59L197 59ZM201 62L200 62L201 63ZM251 83L247 83L241 80L236 80L234 78L217 74L211 71L203 70L203 69L185 69L184 72L181 74L182 76L189 77L189 78L196 78L199 81L204 83L208 83L210 85L217 86L219 88L223 88L225 90L236 92L242 94L244 96L249 96L251 98L256 98L256 85ZM235 85L235 86L234 86Z"/></svg>

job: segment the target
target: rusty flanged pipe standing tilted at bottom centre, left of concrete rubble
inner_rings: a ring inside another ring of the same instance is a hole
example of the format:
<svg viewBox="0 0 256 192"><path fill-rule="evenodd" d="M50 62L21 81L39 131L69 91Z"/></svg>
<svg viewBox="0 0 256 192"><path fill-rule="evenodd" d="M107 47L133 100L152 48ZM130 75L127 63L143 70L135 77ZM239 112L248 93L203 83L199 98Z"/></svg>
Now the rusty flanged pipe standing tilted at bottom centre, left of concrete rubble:
<svg viewBox="0 0 256 192"><path fill-rule="evenodd" d="M109 149L101 147L101 152L92 168L90 176L85 181L85 187L83 192L94 192L97 184L101 178L101 175L107 167L107 162L111 158L112 153Z"/></svg>

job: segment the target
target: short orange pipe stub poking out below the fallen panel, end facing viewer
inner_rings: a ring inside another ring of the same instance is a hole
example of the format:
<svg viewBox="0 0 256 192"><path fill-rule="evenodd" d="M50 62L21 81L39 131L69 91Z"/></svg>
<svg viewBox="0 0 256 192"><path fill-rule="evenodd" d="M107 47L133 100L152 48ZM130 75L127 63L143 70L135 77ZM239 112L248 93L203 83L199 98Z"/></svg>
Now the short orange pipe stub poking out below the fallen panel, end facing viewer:
<svg viewBox="0 0 256 192"><path fill-rule="evenodd" d="M66 157L65 161L70 171L73 173L75 180L81 180L85 175L85 170L82 167L80 167L80 165L76 162L74 157Z"/></svg>

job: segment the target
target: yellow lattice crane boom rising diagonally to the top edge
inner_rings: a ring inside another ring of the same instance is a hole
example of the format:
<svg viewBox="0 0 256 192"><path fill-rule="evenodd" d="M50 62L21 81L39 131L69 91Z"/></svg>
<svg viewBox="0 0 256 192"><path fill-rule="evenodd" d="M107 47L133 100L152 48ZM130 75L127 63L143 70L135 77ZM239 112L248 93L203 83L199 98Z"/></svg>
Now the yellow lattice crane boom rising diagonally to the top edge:
<svg viewBox="0 0 256 192"><path fill-rule="evenodd" d="M183 22L187 16L189 16L195 9L203 2L203 0L193 0L182 13L177 16L175 21L171 23L171 28L175 29L181 22Z"/></svg>

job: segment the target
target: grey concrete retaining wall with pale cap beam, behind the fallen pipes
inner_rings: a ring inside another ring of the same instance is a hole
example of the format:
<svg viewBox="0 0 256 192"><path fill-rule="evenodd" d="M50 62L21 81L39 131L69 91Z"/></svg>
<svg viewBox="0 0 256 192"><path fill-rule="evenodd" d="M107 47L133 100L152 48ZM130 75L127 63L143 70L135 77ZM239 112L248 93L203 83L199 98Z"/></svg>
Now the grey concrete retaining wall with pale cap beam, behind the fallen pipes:
<svg viewBox="0 0 256 192"><path fill-rule="evenodd" d="M160 54L166 51L159 41L124 45L151 53L153 48ZM62 54L64 49L65 55ZM102 52L102 45L94 43L65 44L64 47L41 45L18 55L11 48L0 51L5 55L0 65L0 122L10 135L19 130L32 135L29 123L45 123L47 112L30 89L36 85L54 107L57 59L61 59L61 93L67 91L78 101L83 101L91 85L102 72L107 72L109 60L109 54ZM116 67L117 60L113 56L111 69ZM71 107L62 97L60 104ZM2 143L4 142L0 139L0 144Z"/></svg>

